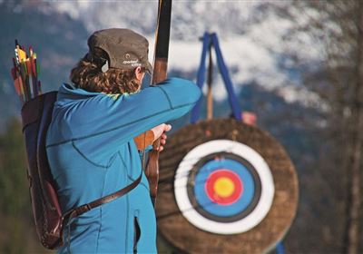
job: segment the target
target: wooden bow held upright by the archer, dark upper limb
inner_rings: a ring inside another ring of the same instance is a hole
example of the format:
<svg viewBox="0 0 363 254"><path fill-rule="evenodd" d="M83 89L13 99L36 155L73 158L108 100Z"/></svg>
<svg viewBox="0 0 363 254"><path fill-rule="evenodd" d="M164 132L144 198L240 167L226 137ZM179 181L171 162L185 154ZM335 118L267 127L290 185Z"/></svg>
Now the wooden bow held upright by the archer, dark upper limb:
<svg viewBox="0 0 363 254"><path fill-rule="evenodd" d="M152 84L161 83L166 79L171 17L172 0L159 0ZM159 181L159 147L160 138L152 144L152 151L149 151L149 162L145 170L150 185L150 195L152 196L153 204L155 204Z"/></svg>

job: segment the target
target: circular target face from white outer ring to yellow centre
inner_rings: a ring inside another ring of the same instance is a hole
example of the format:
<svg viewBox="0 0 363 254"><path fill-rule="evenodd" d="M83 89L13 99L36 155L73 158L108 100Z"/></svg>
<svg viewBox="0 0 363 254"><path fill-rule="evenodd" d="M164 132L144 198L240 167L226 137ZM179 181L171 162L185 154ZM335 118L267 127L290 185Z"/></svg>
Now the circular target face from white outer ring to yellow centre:
<svg viewBox="0 0 363 254"><path fill-rule="evenodd" d="M174 181L182 215L217 234L255 227L274 195L270 168L257 151L229 140L205 142L182 159Z"/></svg>

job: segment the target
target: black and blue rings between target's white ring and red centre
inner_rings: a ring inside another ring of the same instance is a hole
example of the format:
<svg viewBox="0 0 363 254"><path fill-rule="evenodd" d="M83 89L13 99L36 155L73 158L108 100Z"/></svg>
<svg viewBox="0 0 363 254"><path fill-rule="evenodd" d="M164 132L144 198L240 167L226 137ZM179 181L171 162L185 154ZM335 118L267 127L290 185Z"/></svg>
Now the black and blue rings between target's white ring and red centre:
<svg viewBox="0 0 363 254"><path fill-rule="evenodd" d="M228 206L213 203L203 185L208 177L221 168L228 168L243 181L244 193ZM188 197L195 210L210 220L233 222L246 217L260 200L260 178L249 161L231 152L217 152L203 157L191 169L188 179Z"/></svg>

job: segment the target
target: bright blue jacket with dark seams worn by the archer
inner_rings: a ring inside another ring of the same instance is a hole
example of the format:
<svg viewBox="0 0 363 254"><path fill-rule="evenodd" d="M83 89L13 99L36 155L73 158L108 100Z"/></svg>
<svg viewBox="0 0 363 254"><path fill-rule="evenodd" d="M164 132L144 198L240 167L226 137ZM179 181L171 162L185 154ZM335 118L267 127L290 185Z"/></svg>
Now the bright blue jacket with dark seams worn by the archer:
<svg viewBox="0 0 363 254"><path fill-rule="evenodd" d="M120 190L142 172L133 138L191 111L201 92L172 78L139 93L89 93L64 84L54 104L46 151L65 212ZM156 252L156 220L149 183L71 220L70 239L60 253L131 253L134 220L141 236L139 253Z"/></svg>

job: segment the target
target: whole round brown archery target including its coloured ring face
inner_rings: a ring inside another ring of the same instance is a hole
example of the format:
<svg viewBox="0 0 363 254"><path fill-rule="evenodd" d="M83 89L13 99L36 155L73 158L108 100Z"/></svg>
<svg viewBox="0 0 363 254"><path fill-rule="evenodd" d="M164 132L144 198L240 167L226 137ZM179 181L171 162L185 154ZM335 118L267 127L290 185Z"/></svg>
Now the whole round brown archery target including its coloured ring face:
<svg viewBox="0 0 363 254"><path fill-rule="evenodd" d="M268 133L234 119L175 132L161 154L162 237L190 253L261 253L295 217L298 179Z"/></svg>

